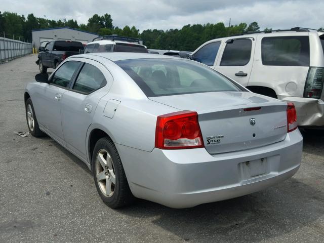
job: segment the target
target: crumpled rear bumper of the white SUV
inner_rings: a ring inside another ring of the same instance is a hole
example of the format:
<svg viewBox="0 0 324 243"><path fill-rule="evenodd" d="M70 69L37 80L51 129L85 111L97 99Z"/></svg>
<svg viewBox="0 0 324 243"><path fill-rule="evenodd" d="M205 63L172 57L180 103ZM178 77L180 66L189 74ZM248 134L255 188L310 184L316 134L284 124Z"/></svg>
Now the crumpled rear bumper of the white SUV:
<svg viewBox="0 0 324 243"><path fill-rule="evenodd" d="M324 126L324 101L290 96L279 96L278 99L295 104L298 126Z"/></svg>

